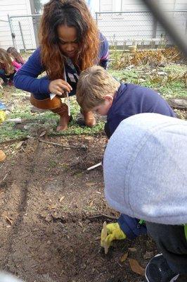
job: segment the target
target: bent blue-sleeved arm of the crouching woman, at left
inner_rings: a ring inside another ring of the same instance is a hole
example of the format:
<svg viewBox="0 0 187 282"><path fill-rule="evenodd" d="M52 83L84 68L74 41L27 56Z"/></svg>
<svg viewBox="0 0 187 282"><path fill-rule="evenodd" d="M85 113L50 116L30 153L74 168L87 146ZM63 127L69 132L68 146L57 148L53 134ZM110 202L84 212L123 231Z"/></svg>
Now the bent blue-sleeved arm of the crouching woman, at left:
<svg viewBox="0 0 187 282"><path fill-rule="evenodd" d="M30 59L15 73L15 87L33 93L46 93L49 91L49 79L37 78L44 71L41 65L40 49L34 51Z"/></svg>

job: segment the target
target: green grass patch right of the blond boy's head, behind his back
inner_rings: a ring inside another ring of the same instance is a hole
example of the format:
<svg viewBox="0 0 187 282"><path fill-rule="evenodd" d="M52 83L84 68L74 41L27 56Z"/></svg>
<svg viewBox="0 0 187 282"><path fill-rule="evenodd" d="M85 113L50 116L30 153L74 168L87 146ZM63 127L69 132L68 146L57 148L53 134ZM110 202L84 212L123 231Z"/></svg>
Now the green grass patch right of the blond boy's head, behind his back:
<svg viewBox="0 0 187 282"><path fill-rule="evenodd" d="M186 71L186 65L177 64L166 66L165 68L151 69L148 66L141 66L121 71L109 70L120 81L150 87L160 92L165 99L187 97L183 78ZM160 73L165 73L165 75L160 75Z"/></svg>

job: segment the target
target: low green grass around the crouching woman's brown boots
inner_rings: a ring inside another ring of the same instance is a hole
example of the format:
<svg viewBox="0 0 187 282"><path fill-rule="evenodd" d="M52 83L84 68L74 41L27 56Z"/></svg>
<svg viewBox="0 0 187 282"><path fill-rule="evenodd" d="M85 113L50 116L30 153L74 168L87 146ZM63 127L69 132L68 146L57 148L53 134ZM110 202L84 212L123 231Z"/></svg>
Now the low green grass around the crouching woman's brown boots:
<svg viewBox="0 0 187 282"><path fill-rule="evenodd" d="M75 97L71 99L71 114L73 116L73 121L69 124L69 127L65 132L56 132L56 127L58 125L59 117L53 114L51 111L45 111L40 114L32 113L30 111L30 104L17 106L16 109L7 116L10 118L21 118L22 119L22 129L15 129L16 125L14 122L4 121L0 125L0 142L6 140L24 138L27 135L36 136L37 133L41 131L46 131L49 135L65 136L65 135L95 135L101 133L104 128L103 122L98 122L93 128L88 128L86 126L79 125L76 122L77 114L79 114L79 106L75 100Z"/></svg>

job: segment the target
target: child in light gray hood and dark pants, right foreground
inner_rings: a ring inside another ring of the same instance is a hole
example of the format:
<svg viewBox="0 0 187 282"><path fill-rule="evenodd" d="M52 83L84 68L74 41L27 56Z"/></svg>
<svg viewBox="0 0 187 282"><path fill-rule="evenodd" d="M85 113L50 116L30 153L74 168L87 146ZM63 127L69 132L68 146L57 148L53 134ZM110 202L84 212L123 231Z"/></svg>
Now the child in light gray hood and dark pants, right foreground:
<svg viewBox="0 0 187 282"><path fill-rule="evenodd" d="M110 207L146 221L162 252L146 266L147 281L186 282L187 121L160 114L127 118L108 142L103 169Z"/></svg>

